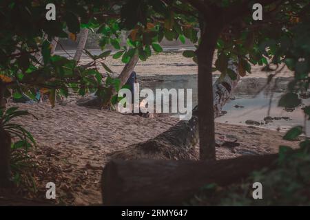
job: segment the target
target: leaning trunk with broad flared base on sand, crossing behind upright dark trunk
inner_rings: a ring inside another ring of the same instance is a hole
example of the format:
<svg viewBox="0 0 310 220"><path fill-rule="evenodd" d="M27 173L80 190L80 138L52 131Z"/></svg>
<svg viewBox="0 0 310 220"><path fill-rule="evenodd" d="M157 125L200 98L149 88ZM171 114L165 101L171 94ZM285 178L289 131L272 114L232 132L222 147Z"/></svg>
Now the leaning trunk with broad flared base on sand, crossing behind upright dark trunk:
<svg viewBox="0 0 310 220"><path fill-rule="evenodd" d="M229 62L229 68L237 72L236 65ZM240 76L231 80L229 76L221 75L214 83L214 113L220 115L223 106L231 97ZM192 118L180 121L160 135L141 142L126 146L120 151L110 153L111 159L198 159L198 106L193 109Z"/></svg>

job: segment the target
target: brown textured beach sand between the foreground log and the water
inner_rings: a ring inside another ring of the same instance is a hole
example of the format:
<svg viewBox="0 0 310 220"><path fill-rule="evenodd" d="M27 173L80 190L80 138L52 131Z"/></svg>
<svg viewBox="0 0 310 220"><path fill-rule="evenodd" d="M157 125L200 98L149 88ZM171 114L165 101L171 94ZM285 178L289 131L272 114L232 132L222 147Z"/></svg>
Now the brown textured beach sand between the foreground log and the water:
<svg viewBox="0 0 310 220"><path fill-rule="evenodd" d="M39 118L35 120L27 116L16 121L37 140L37 148L33 148L30 154L39 164L34 173L39 191L31 197L44 200L45 184L52 181L56 184L57 197L51 202L66 205L100 204L101 173L108 162L107 153L155 137L178 122L177 118L168 115L142 118L115 111L87 109L71 102L57 104L54 109L48 102L10 103L10 106L28 109ZM226 159L276 153L278 146L283 144L298 146L298 142L282 140L282 135L254 126L217 123L218 142L229 137L229 140L236 139L240 146L216 147L216 155L218 159Z"/></svg>

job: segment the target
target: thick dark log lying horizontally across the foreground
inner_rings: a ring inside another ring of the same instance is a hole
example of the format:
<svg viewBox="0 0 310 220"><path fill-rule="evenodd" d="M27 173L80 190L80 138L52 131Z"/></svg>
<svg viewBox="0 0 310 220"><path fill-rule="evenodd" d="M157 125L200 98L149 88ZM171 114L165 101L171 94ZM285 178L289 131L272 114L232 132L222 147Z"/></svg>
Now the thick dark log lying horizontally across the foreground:
<svg viewBox="0 0 310 220"><path fill-rule="evenodd" d="M219 161L115 160L102 175L107 206L183 205L207 184L227 186L253 170L273 168L277 154L244 156Z"/></svg>

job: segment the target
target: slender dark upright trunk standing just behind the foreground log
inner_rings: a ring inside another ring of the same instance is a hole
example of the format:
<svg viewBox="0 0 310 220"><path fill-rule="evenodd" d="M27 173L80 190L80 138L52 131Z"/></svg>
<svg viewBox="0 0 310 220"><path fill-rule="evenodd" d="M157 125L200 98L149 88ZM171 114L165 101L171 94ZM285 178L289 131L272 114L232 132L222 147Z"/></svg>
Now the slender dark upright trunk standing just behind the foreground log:
<svg viewBox="0 0 310 220"><path fill-rule="evenodd" d="M220 32L220 24L205 26L197 52L200 159L216 159L212 61Z"/></svg>

